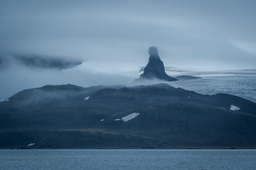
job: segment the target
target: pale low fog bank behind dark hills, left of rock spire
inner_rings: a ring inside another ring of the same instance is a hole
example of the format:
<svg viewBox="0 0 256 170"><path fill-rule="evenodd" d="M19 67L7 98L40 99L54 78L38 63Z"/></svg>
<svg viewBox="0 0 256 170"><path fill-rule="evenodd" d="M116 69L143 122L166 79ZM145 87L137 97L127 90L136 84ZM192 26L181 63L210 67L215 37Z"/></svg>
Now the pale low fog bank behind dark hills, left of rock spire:
<svg viewBox="0 0 256 170"><path fill-rule="evenodd" d="M135 79L133 74L127 73L115 74L104 72L102 69L81 70L79 67L83 67L85 63L67 70L27 67L23 64L12 63L0 71L0 98L8 98L21 90L42 87L47 84L70 83L82 87L98 86L99 84L130 86Z"/></svg>

